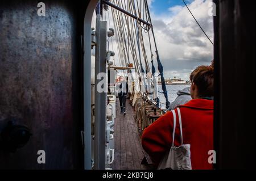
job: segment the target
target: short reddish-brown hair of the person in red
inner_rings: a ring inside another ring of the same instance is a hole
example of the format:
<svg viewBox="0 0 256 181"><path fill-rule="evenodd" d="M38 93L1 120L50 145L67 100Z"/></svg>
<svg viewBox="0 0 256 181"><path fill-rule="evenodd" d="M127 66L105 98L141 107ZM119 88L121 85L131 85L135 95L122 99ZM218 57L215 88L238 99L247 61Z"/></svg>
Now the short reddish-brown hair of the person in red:
<svg viewBox="0 0 256 181"><path fill-rule="evenodd" d="M213 96L214 88L214 66L213 62L210 66L200 65L190 75L191 83L195 83L198 87L200 97Z"/></svg>

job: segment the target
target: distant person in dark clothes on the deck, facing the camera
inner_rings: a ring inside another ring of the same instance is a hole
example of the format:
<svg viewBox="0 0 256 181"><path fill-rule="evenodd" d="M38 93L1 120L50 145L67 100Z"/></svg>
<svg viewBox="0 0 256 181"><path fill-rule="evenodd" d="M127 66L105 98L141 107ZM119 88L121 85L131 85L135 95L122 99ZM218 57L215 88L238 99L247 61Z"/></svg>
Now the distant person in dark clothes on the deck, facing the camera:
<svg viewBox="0 0 256 181"><path fill-rule="evenodd" d="M128 92L128 84L123 76L119 77L117 82L118 98L120 102L120 113L126 114L126 96Z"/></svg>

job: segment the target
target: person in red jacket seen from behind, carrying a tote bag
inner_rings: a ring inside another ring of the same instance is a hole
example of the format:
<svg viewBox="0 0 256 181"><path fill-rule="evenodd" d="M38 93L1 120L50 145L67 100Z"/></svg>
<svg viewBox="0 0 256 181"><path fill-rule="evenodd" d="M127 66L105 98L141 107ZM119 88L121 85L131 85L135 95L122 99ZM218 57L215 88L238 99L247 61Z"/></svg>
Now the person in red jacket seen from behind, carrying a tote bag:
<svg viewBox="0 0 256 181"><path fill-rule="evenodd" d="M213 169L213 165L208 162L208 151L213 150L213 64L199 66L192 74L192 100L178 106L181 112L183 142L191 145L192 169ZM176 109L175 112L177 117ZM142 147L155 166L170 151L173 119L172 112L168 111L143 131ZM176 123L174 144L180 146L179 121Z"/></svg>

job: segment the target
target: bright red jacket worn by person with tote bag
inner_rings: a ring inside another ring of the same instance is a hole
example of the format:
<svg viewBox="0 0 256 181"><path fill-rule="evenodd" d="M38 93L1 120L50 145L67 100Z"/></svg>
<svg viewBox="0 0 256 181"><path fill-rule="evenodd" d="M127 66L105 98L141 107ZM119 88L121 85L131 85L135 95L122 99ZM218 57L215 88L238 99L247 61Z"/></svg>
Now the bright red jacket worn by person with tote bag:
<svg viewBox="0 0 256 181"><path fill-rule="evenodd" d="M179 106L183 127L183 142L191 145L192 169L212 169L208 163L208 151L213 150L213 100L192 99ZM180 145L180 127L176 112L175 146ZM159 164L171 148L174 116L168 111L159 117L142 134L143 149L152 161Z"/></svg>

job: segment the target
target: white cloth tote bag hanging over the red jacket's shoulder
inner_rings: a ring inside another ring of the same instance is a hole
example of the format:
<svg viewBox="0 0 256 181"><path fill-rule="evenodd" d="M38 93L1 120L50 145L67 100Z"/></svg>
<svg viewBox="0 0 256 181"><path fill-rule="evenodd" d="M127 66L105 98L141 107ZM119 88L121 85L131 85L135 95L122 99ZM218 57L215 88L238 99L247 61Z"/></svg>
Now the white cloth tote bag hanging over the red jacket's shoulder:
<svg viewBox="0 0 256 181"><path fill-rule="evenodd" d="M182 123L180 109L177 108L177 113L180 123L180 142L181 145L176 147L174 145L175 140L175 127L176 127L176 113L173 110L174 115L174 130L172 131L172 146L166 155L164 155L162 161L159 163L158 169L171 169L171 170L191 170L191 158L190 158L190 144L183 144L182 136Z"/></svg>

